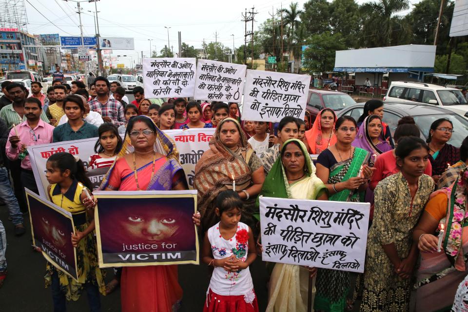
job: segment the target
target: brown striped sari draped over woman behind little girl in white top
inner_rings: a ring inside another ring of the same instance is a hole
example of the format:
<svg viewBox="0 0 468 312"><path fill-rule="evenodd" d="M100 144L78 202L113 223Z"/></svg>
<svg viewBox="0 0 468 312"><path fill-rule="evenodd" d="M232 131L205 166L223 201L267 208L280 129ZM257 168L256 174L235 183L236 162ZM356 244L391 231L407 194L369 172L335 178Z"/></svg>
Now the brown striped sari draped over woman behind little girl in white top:
<svg viewBox="0 0 468 312"><path fill-rule="evenodd" d="M233 121L240 134L239 149L236 152L227 148L219 139L221 125ZM247 138L237 120L228 117L221 120L216 127L215 135L195 165L194 189L198 191L197 204L201 215L202 232L208 231L219 220L215 214L216 196L224 190L232 190L233 179L235 191L242 191L252 185L252 174L261 168L261 163L254 150L249 147ZM244 201L241 222L256 229L253 218L256 196Z"/></svg>

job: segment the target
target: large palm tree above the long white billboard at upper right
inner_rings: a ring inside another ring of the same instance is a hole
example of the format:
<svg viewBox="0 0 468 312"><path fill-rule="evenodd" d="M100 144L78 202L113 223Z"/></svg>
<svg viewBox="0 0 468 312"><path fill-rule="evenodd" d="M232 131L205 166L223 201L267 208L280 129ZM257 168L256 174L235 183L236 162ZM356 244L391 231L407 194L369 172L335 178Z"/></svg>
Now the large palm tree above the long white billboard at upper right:
<svg viewBox="0 0 468 312"><path fill-rule="evenodd" d="M408 23L395 14L408 10L408 0L379 0L365 3L361 11L367 18L363 25L363 43L367 47L389 46L394 32L407 32Z"/></svg>

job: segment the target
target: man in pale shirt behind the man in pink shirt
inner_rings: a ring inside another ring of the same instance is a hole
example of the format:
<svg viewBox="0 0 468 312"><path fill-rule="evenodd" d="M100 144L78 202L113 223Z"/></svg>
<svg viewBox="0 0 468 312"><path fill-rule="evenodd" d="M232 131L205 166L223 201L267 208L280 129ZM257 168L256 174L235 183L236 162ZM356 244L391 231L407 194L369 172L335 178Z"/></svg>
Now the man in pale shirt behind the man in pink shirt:
<svg viewBox="0 0 468 312"><path fill-rule="evenodd" d="M10 99L13 100L13 103L6 105L0 110L0 118L6 122L8 130L10 130L13 128L13 125L19 125L21 122L26 121L24 100L27 98L27 89L22 84L13 82L6 87L6 90L10 95ZM43 110L41 110L40 119L44 122L49 122ZM8 161L8 169L13 179L13 188L16 198L18 198L18 202L20 203L20 209L22 212L27 212L28 207L26 201L24 201L24 187L21 184L20 177L21 160Z"/></svg>

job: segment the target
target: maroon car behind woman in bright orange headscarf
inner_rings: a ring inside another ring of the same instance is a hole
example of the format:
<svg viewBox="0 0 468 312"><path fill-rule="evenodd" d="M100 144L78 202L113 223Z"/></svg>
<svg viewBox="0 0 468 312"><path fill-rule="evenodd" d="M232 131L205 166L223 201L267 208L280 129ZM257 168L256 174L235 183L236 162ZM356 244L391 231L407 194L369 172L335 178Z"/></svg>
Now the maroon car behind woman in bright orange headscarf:
<svg viewBox="0 0 468 312"><path fill-rule="evenodd" d="M331 108L337 113L353 104L356 104L356 101L346 93L310 89L306 109L311 113L311 122L313 122L317 114L324 108Z"/></svg>

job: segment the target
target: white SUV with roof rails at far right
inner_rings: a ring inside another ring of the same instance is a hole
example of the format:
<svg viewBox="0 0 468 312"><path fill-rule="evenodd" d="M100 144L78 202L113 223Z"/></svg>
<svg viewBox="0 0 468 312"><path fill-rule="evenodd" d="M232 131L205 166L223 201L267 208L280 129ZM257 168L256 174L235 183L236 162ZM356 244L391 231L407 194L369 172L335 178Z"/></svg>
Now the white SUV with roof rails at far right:
<svg viewBox="0 0 468 312"><path fill-rule="evenodd" d="M392 81L384 102L436 105L468 118L468 103L462 92L437 84Z"/></svg>

